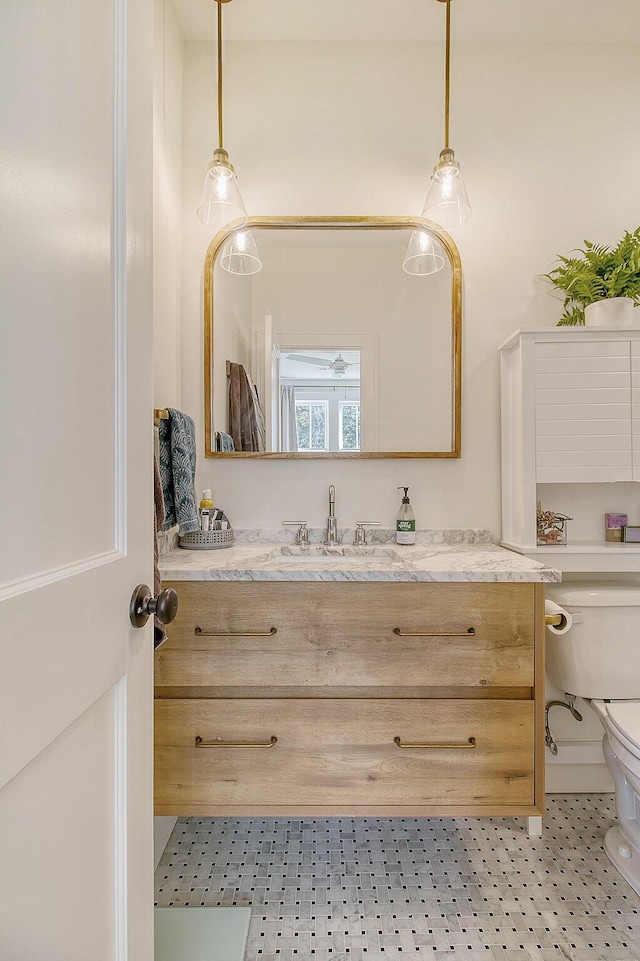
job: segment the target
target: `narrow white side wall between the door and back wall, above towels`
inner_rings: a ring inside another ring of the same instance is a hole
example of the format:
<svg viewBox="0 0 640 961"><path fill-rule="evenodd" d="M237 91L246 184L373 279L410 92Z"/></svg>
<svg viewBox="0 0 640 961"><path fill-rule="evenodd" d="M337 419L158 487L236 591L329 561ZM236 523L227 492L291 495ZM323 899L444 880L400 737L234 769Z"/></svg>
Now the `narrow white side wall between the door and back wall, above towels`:
<svg viewBox="0 0 640 961"><path fill-rule="evenodd" d="M182 35L171 0L154 0L154 407L180 407Z"/></svg>

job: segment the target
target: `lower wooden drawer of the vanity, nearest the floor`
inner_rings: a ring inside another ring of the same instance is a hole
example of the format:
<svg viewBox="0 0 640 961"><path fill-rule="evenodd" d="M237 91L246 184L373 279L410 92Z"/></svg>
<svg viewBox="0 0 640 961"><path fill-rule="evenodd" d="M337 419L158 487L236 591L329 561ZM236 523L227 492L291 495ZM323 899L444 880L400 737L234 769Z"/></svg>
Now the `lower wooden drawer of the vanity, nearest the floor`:
<svg viewBox="0 0 640 961"><path fill-rule="evenodd" d="M348 813L386 805L508 813L533 804L530 701L251 698L155 705L158 814L305 806ZM198 737L227 746L197 747ZM269 745L274 737L271 747L238 744Z"/></svg>

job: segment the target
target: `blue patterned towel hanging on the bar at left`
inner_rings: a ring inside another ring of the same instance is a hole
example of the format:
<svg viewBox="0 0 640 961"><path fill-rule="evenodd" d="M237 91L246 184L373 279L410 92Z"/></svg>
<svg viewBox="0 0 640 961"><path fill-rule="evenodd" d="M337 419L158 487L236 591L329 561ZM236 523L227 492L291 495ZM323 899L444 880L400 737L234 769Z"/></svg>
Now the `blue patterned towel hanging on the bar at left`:
<svg viewBox="0 0 640 961"><path fill-rule="evenodd" d="M200 530L196 501L196 431L187 414L167 407L168 420L161 420L160 479L165 520L162 530L178 524L180 534Z"/></svg>

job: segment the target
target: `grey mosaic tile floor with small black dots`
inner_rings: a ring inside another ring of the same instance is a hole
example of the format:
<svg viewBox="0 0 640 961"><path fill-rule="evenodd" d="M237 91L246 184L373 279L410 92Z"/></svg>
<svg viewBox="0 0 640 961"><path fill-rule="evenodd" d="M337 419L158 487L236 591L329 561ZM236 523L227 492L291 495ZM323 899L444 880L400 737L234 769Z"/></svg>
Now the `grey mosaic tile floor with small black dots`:
<svg viewBox="0 0 640 961"><path fill-rule="evenodd" d="M516 818L180 818L158 905L249 905L245 961L640 961L613 798ZM223 958L220 961L224 961Z"/></svg>

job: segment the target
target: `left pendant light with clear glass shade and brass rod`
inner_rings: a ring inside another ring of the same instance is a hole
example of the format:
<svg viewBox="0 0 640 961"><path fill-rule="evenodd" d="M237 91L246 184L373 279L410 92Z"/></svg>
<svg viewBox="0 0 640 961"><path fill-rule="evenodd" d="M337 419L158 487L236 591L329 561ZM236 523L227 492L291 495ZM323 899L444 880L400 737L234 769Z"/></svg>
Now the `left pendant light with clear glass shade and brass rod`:
<svg viewBox="0 0 640 961"><path fill-rule="evenodd" d="M229 154L223 146L222 132L222 4L229 0L215 0L218 6L218 147L207 168L198 205L198 217L207 227L220 230L232 220L247 221L247 211L238 188Z"/></svg>

